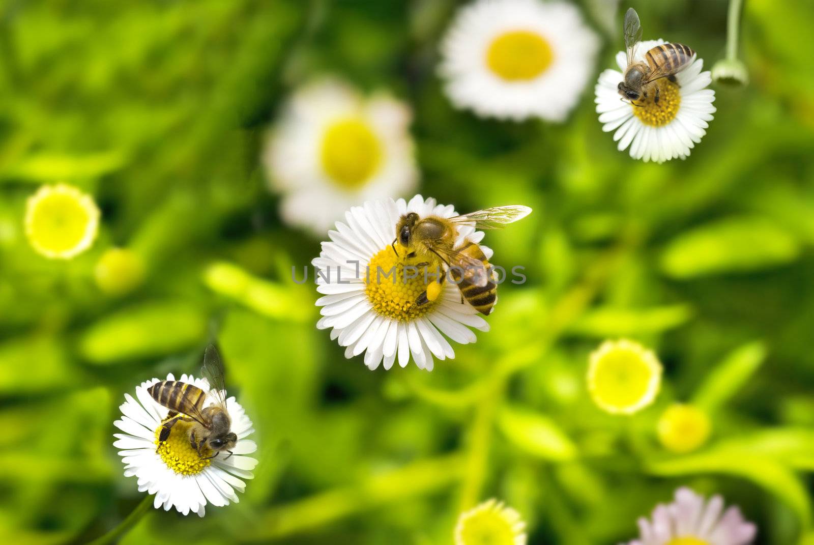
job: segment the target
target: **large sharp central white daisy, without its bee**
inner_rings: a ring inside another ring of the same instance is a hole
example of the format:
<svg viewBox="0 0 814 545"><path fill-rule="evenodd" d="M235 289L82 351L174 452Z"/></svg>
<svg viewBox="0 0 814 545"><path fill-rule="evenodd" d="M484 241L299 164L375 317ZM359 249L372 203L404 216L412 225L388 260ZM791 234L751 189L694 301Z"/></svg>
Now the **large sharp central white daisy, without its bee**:
<svg viewBox="0 0 814 545"><path fill-rule="evenodd" d="M455 352L446 337L462 345L475 342L469 327L487 332L489 324L478 315L453 282L441 285L435 301L416 305L419 295L427 289L441 269L440 262L418 270L406 253L399 256L391 244L396 237L396 223L401 215L415 212L451 218L457 213L452 204L436 204L435 199L414 196L404 199L378 200L354 206L345 213L346 222L337 222L329 231L330 242L322 243L322 252L312 262L317 270L317 300L322 306L320 329L331 328L330 338L346 346L345 357L365 353L365 365L370 369L389 369L398 358L405 367L412 354L418 367L431 371L433 357L454 358ZM471 226L458 226L457 244L468 239L479 244L483 231ZM481 245L486 257L491 248ZM395 267L395 268L394 268ZM394 271L394 272L393 272ZM387 275L387 276L385 276ZM409 278L414 276L414 278Z"/></svg>

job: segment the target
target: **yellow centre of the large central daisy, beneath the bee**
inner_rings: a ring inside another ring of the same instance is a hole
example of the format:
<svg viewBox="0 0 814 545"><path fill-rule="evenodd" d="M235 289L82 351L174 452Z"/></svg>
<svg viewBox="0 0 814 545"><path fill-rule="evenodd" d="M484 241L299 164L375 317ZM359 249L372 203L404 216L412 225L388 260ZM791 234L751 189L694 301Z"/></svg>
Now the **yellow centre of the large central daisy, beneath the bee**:
<svg viewBox="0 0 814 545"><path fill-rule="evenodd" d="M427 284L443 275L440 262L407 257L409 249L396 245L399 257L387 246L370 260L365 275L365 293L373 310L382 316L409 322L427 314L439 299L417 305L416 299L427 290ZM418 266L419 263L427 263ZM425 281L426 280L426 281Z"/></svg>

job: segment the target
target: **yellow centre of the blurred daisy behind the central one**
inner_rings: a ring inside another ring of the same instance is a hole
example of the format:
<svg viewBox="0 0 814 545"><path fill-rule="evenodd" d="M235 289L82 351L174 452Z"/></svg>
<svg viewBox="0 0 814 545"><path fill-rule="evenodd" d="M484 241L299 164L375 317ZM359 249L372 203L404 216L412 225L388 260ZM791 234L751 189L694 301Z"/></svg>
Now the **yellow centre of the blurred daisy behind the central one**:
<svg viewBox="0 0 814 545"><path fill-rule="evenodd" d="M344 189L358 189L379 169L382 144L365 121L343 119L328 126L322 138L322 168Z"/></svg>

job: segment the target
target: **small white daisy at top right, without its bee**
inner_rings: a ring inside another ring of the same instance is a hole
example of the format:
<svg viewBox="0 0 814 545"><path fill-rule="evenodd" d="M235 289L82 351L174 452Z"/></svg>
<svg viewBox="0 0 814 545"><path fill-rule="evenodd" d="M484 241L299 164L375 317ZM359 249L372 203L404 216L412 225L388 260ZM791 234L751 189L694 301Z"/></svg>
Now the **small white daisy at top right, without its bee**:
<svg viewBox="0 0 814 545"><path fill-rule="evenodd" d="M639 42L633 59L644 61L647 51L664 43L663 40ZM716 111L712 103L715 91L707 89L712 78L709 71L702 72L704 61L693 61L676 74L676 82L666 77L656 81L659 102L654 94L633 106L619 95L619 81L624 79L628 58L624 51L616 54L619 70L608 68L599 76L595 88L597 113L603 123L602 130L615 130L613 139L619 142L619 151L630 147L633 159L663 163L681 157L707 134L708 122Z"/></svg>

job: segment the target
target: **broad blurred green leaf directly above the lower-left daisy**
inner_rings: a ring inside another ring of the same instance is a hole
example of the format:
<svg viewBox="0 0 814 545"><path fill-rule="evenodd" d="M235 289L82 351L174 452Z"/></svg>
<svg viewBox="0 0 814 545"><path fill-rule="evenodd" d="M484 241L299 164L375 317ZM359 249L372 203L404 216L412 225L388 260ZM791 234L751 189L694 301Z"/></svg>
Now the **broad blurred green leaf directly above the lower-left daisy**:
<svg viewBox="0 0 814 545"><path fill-rule="evenodd" d="M79 349L92 363L173 354L204 341L206 323L202 310L183 301L144 303L88 327Z"/></svg>

